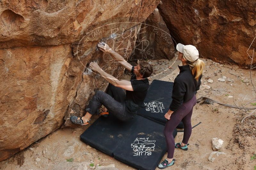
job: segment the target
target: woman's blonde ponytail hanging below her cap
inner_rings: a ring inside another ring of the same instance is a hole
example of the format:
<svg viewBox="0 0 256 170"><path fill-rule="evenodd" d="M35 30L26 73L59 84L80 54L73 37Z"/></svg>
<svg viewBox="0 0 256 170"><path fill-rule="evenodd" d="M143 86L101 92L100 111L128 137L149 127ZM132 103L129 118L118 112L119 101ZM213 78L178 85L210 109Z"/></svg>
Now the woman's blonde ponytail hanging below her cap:
<svg viewBox="0 0 256 170"><path fill-rule="evenodd" d="M185 59L186 60L186 59ZM205 66L204 61L197 59L194 62L186 60L187 64L190 66L192 74L195 76L196 81L203 74L203 68Z"/></svg>

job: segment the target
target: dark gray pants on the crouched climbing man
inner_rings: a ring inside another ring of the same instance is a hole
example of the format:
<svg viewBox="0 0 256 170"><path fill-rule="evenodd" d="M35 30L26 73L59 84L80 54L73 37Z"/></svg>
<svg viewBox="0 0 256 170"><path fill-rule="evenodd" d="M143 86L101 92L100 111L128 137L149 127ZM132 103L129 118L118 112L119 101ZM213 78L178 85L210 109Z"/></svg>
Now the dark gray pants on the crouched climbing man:
<svg viewBox="0 0 256 170"><path fill-rule="evenodd" d="M109 83L107 93L96 91L86 111L90 114L98 114L101 105L108 109L109 114L114 115L122 121L132 119L132 114L126 112L126 94L124 89L115 87Z"/></svg>

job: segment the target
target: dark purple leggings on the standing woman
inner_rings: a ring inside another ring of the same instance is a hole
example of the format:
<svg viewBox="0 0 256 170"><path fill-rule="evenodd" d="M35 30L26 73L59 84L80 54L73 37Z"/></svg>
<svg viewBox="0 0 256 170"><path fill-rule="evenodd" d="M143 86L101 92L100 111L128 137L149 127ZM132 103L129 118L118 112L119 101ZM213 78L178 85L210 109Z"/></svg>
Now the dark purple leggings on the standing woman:
<svg viewBox="0 0 256 170"><path fill-rule="evenodd" d="M193 107L196 105L196 96L190 99L188 102L183 103L178 110L172 113L170 120L168 120L164 127L164 136L167 144L167 158L172 159L174 154L175 142L172 136L172 132L178 126L180 121L184 124L184 135L182 142L188 144L192 132L191 116Z"/></svg>

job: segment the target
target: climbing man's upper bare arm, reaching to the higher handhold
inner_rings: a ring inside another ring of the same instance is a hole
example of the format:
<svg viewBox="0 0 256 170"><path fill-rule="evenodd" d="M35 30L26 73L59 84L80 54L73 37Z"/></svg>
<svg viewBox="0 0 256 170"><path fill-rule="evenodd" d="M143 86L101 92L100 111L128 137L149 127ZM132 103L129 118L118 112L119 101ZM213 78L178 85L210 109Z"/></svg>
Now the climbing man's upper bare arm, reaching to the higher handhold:
<svg viewBox="0 0 256 170"><path fill-rule="evenodd" d="M114 60L118 61L122 66L124 66L126 68L126 70L131 72L132 65L130 63L128 63L126 60L124 60L124 58L120 54L118 54L114 50L112 50L108 46L108 44L106 44L104 42L99 42L98 47L100 48L101 51L108 52Z"/></svg>

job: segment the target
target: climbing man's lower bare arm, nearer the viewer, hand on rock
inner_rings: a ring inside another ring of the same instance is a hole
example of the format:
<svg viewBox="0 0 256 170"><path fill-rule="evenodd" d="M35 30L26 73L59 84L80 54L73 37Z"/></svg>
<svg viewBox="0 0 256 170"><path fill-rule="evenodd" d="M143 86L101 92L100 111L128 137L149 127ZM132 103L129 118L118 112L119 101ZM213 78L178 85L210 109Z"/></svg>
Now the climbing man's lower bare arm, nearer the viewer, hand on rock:
<svg viewBox="0 0 256 170"><path fill-rule="evenodd" d="M105 80L107 80L110 84L113 84L116 87L120 87L122 89L133 91L131 81L118 80L114 76L103 71L100 66L95 62L90 62L89 68L93 71L97 71Z"/></svg>

